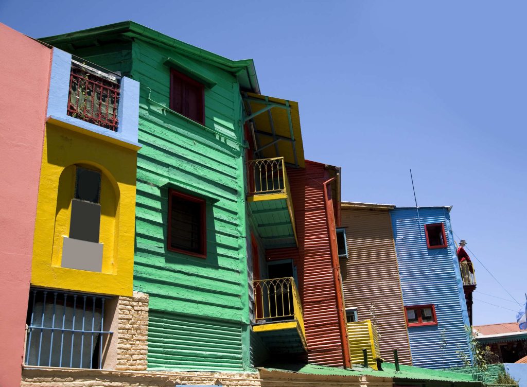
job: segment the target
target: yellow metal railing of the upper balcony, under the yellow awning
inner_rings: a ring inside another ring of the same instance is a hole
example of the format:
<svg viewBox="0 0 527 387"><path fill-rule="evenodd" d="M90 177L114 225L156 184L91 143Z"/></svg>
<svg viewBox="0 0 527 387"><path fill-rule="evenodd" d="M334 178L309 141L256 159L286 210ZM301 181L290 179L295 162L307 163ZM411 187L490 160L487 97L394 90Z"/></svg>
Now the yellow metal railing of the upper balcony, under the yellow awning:
<svg viewBox="0 0 527 387"><path fill-rule="evenodd" d="M249 173L249 194L262 195L286 193L288 191L287 172L283 157L247 161Z"/></svg>

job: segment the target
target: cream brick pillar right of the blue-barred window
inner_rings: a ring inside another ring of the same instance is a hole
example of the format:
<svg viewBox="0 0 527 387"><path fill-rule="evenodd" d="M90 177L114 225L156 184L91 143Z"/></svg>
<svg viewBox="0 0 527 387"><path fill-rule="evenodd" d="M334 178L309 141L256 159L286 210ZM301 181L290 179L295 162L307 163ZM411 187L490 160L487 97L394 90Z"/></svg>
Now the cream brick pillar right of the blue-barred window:
<svg viewBox="0 0 527 387"><path fill-rule="evenodd" d="M140 292L133 292L132 297L119 297L115 370L147 369L148 299L148 294Z"/></svg>

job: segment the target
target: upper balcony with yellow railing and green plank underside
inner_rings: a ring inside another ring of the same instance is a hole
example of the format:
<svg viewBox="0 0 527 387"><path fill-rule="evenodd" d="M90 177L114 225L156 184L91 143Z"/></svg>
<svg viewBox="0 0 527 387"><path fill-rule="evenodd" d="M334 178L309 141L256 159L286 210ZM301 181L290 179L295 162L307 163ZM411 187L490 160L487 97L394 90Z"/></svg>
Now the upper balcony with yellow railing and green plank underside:
<svg viewBox="0 0 527 387"><path fill-rule="evenodd" d="M266 248L297 246L284 158L247 162L249 209Z"/></svg>

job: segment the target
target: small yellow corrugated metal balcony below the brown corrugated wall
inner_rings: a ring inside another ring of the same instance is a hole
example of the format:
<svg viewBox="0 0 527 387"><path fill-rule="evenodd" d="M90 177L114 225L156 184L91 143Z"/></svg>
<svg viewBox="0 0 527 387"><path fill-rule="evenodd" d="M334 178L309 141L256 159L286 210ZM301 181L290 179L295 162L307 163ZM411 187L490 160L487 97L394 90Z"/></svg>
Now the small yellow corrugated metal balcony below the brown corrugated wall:
<svg viewBox="0 0 527 387"><path fill-rule="evenodd" d="M379 336L371 320L347 323L349 338L349 355L352 364L364 364L364 352L367 353L368 366L377 370L377 359L380 359Z"/></svg>

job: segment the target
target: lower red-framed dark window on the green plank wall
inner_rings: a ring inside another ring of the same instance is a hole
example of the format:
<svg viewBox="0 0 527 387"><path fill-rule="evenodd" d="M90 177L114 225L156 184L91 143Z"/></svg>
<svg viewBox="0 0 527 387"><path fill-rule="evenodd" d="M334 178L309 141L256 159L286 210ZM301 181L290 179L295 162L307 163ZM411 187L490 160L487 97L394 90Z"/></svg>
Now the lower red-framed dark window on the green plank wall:
<svg viewBox="0 0 527 387"><path fill-rule="evenodd" d="M169 191L168 249L195 257L207 256L206 202L175 190Z"/></svg>

